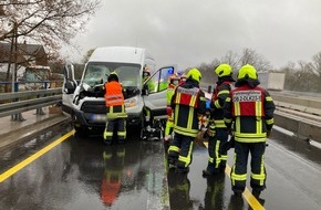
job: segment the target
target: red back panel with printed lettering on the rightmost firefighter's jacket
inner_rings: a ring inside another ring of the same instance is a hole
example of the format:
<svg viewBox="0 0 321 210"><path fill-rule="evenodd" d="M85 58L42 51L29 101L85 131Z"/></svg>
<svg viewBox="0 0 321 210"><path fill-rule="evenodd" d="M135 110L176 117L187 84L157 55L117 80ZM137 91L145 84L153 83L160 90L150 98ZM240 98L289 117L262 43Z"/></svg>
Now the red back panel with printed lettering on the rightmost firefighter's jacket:
<svg viewBox="0 0 321 210"><path fill-rule="evenodd" d="M231 99L234 102L232 116L265 116L263 99L265 90L257 86L249 88L241 86L231 91Z"/></svg>

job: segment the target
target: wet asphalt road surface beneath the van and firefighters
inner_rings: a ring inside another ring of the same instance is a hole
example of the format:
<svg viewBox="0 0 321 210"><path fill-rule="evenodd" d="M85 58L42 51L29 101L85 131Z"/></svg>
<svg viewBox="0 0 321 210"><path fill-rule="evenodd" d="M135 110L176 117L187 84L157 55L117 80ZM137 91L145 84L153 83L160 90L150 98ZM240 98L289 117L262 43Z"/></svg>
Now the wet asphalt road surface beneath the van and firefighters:
<svg viewBox="0 0 321 210"><path fill-rule="evenodd" d="M84 138L70 130L53 128L0 154L1 210L321 209L321 149L278 130L268 141L267 189L258 200L249 187L242 198L234 197L228 174L203 178L204 146L195 146L184 176L167 170L163 143L138 140L134 130L126 144L112 146L100 136ZM70 137L12 169L64 134ZM228 164L232 166L232 150ZM9 169L12 175L3 179Z"/></svg>

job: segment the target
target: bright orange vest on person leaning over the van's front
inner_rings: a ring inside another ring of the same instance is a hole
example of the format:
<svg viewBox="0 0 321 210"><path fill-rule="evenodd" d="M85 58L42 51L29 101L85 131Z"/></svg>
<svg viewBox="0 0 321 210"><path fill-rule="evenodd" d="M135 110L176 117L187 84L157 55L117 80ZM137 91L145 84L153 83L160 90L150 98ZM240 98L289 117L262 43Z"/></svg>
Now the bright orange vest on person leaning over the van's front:
<svg viewBox="0 0 321 210"><path fill-rule="evenodd" d="M105 90L106 90L105 94L106 107L122 106L125 104L121 83L115 81L105 83Z"/></svg>

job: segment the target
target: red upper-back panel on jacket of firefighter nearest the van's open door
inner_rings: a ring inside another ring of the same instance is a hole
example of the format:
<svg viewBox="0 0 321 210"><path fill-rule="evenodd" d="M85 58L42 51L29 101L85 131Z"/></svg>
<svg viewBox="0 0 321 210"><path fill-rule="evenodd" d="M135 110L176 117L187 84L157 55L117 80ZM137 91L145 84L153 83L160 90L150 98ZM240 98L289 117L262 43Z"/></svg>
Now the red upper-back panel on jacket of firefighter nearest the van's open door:
<svg viewBox="0 0 321 210"><path fill-rule="evenodd" d="M198 106L199 88L184 88L178 86L176 88L175 104L186 105L197 108Z"/></svg>

